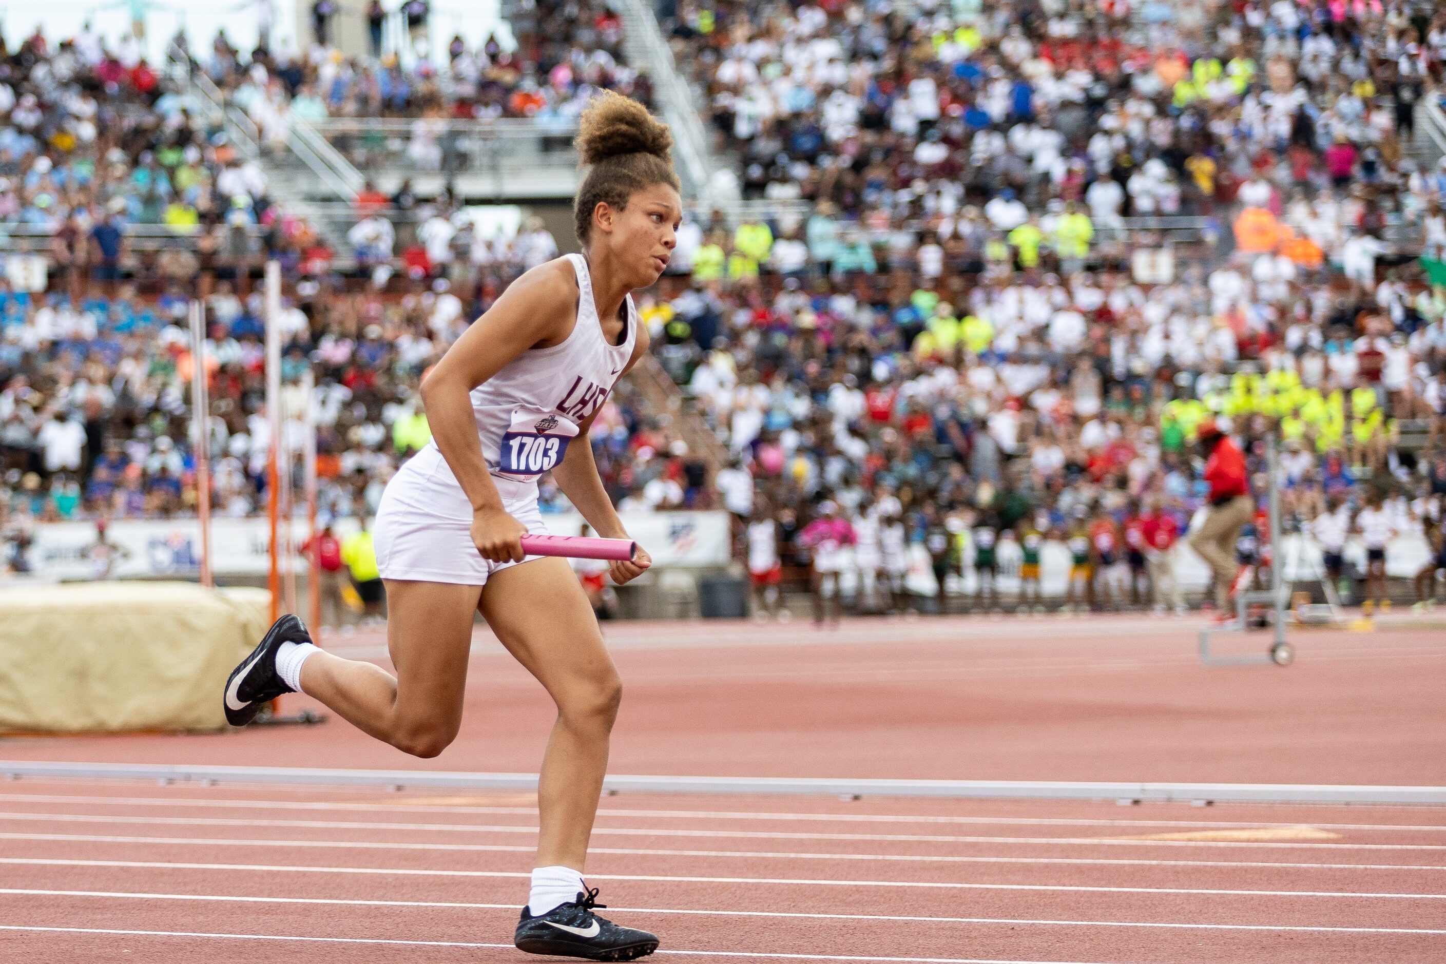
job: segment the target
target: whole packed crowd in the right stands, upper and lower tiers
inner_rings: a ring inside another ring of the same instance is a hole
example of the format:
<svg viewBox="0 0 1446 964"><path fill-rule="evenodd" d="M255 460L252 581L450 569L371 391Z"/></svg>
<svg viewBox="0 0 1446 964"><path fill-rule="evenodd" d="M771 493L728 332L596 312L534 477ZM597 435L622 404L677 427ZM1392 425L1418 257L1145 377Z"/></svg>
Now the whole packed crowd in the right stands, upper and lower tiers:
<svg viewBox="0 0 1446 964"><path fill-rule="evenodd" d="M1359 535L1378 491L1369 548L1424 538L1446 565L1446 276L1420 270L1442 270L1446 160L1410 152L1446 14L1170 10L661 10L745 197L774 202L685 225L691 283L649 308L737 457L724 496L759 526L750 568L811 561L817 580L820 555L842 565L837 519L850 565L897 582L894 523L953 585L1043 533L1089 567L1082 595L1119 601L1115 567L1158 555L1142 533L1168 548L1202 504L1215 415L1261 494L1262 438L1281 438L1290 528L1345 506L1339 541Z"/></svg>

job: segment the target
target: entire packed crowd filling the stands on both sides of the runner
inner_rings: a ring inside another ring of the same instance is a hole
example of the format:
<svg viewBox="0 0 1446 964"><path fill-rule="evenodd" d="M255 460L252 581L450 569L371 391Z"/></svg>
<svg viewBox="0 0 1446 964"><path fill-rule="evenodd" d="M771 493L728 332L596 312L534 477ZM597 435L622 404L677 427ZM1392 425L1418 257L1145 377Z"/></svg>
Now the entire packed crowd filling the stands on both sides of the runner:
<svg viewBox="0 0 1446 964"><path fill-rule="evenodd" d="M565 113L589 85L641 78L610 72L623 69L610 14L574 17L590 35L555 40L576 6L523 4L513 53L461 49L409 72L322 46L243 58L221 39L200 62L263 132L298 107L526 116L509 104L532 82ZM1050 541L1073 559L1070 604L1171 607L1176 545L1206 494L1197 429L1219 418L1258 493L1264 438L1281 439L1287 528L1327 549L1400 535L1439 554L1446 276L1430 272L1446 270L1433 267L1446 166L1417 168L1406 136L1414 101L1437 95L1446 22L1397 6L1173 6L1152 26L1124 4L662 10L745 197L765 204L691 214L672 276L639 299L726 464L709 478L706 454L623 386L593 429L620 507L727 509L765 590L847 558L857 604L897 608L930 578L992 604L986 577L1028 581ZM58 230L51 292L0 305L6 525L192 510L192 292L211 322L214 503L263 504L263 251L286 267L288 393L315 369L322 510L372 512L425 442L421 371L555 253L551 236L528 223L479 237L442 198L399 241L395 215L415 198L364 192L350 238L362 272L343 283L259 169L168 111L163 84L142 91L142 64L88 87L87 69L123 59L82 55L80 38L27 45L0 88L14 92L3 173L19 210L54 218L27 223ZM81 77L75 97L38 82L56 61ZM399 100L380 94L398 85ZM214 240L137 262L123 224L161 201L162 223L189 205ZM1151 215L1180 220L1138 220ZM544 502L562 504L549 487ZM1242 536L1242 559L1261 558L1262 535ZM921 552L927 572L911 572Z"/></svg>

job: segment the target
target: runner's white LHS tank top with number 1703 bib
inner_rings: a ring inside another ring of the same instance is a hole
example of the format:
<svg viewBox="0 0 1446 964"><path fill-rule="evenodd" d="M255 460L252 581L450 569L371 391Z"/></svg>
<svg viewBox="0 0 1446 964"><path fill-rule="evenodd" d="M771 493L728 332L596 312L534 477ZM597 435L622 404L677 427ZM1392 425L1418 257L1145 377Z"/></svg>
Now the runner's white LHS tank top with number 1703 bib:
<svg viewBox="0 0 1446 964"><path fill-rule="evenodd" d="M562 461L568 442L577 438L578 423L602 408L638 341L632 295L625 301L623 343L613 345L597 318L587 259L564 257L577 275L573 332L562 344L523 351L471 390L471 410L489 471L532 486ZM435 447L435 441L429 444Z"/></svg>

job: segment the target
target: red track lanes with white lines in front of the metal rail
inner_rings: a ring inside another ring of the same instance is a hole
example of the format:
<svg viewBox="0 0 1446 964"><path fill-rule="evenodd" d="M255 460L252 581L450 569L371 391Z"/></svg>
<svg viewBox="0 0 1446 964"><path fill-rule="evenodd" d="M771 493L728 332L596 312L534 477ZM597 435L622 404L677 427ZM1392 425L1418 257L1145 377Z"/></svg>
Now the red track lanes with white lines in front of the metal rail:
<svg viewBox="0 0 1446 964"><path fill-rule="evenodd" d="M521 961L534 831L523 795L20 780L0 947ZM629 795L604 801L589 880L680 960L1446 958L1430 808Z"/></svg>

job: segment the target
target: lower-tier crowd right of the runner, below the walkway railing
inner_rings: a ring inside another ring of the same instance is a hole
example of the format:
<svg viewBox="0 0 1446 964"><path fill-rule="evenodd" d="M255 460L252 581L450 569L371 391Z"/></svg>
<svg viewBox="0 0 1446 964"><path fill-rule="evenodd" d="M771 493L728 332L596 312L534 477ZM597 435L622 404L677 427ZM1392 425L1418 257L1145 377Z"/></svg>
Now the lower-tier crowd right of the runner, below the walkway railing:
<svg viewBox="0 0 1446 964"><path fill-rule="evenodd" d="M690 286L646 314L668 343L664 364L735 455L719 487L765 582L779 564L817 575L808 526L829 504L849 525L824 571L886 575L895 594L908 543L928 552L936 584L959 588L973 574L986 591L992 580L979 574L1006 558L1014 577L1038 567L1031 541L1043 539L1070 548L1082 580L1071 578L1071 598L1141 603L1158 585L1164 606L1174 546L1207 502L1206 419L1242 439L1261 504L1265 436L1281 441L1287 532L1336 555L1355 536L1371 549L1424 541L1430 568L1446 568L1440 289L1403 298L1397 328L1365 289L1293 286L1303 309L1277 315L1229 263L1186 275L1148 296L1112 270L1038 286L1011 275L957 308L928 289L895 306L884 288L870 304L782 279L774 293ZM1232 314L1272 315L1277 337L1248 344ZM700 330L706 353L688 341ZM1417 434L1410 451L1403 426ZM1366 532L1359 520L1378 519L1372 493L1387 522ZM891 526L892 549L881 536ZM1242 562L1259 559L1265 528L1242 535Z"/></svg>

